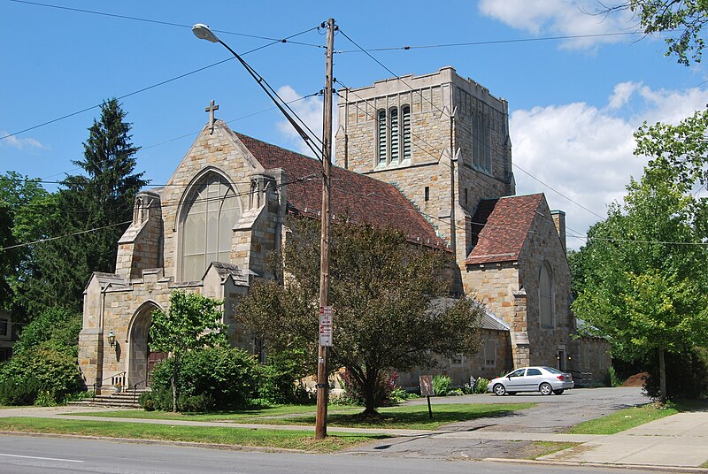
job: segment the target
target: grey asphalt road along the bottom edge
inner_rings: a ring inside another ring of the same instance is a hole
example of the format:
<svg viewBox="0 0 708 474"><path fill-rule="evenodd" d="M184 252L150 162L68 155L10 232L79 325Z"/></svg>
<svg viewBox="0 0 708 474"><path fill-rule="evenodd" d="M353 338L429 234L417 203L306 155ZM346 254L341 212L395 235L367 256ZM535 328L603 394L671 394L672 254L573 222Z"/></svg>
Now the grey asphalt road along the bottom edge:
<svg viewBox="0 0 708 474"><path fill-rule="evenodd" d="M381 458L366 455L304 455L219 451L194 447L138 445L99 440L67 440L27 436L0 438L0 472L4 474L280 474L336 472L361 474L499 474L500 472L613 473L618 469L575 468L510 463L478 463L469 460L441 464L419 458ZM650 471L632 470L633 473Z"/></svg>

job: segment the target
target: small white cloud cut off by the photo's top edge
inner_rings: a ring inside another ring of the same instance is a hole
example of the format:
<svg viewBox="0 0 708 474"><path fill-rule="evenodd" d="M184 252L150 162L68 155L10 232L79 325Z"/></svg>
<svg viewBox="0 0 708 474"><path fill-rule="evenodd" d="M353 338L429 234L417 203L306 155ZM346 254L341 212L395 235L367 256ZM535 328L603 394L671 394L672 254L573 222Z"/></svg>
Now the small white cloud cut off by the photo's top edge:
<svg viewBox="0 0 708 474"><path fill-rule="evenodd" d="M605 3L607 6L617 2ZM597 0L481 0L481 14L536 36L592 35L633 31L636 21L630 11L600 12L603 4ZM625 41L624 36L573 38L564 47L588 49L598 43Z"/></svg>

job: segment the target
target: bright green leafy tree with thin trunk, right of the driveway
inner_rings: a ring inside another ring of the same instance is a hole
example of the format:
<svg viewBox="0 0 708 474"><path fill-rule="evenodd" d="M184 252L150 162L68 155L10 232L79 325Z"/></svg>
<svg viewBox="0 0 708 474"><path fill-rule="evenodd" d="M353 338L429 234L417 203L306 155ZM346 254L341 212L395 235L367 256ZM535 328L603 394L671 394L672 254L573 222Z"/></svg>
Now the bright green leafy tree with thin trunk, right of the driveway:
<svg viewBox="0 0 708 474"><path fill-rule="evenodd" d="M666 398L665 353L708 344L708 200L692 194L673 167L648 166L627 186L581 248L575 314L627 361L658 354Z"/></svg>

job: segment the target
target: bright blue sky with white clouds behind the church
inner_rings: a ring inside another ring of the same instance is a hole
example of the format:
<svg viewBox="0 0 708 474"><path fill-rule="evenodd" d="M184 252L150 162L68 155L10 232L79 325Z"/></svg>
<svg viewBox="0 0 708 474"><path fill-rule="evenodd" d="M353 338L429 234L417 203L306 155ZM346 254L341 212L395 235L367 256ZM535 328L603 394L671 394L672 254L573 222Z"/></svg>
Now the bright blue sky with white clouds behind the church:
<svg viewBox="0 0 708 474"><path fill-rule="evenodd" d="M570 234L585 233L607 203L621 199L630 176L641 175L646 160L632 154L637 126L675 122L708 103L703 65L664 57L660 38L617 34L635 31L636 20L593 15L596 0L42 4L175 24L0 0L0 136L11 135L0 140L0 169L49 181L78 172L72 160L81 158L98 109L18 132L113 96L126 96L121 103L142 147L138 170L155 185L165 183L189 149L212 99L217 117L236 131L303 150L233 60L127 96L230 57L196 40L189 27L197 22L222 31L221 39L241 53L271 42L242 34L280 39L305 32L244 56L288 99L323 87L325 36L316 27L328 17L366 49L396 48L371 54L397 75L454 66L509 101L517 191L546 193L551 208L566 210ZM588 34L612 35L547 39ZM478 44L444 46L454 43ZM342 34L335 50L339 87L391 76ZM293 107L321 128L319 97ZM572 248L582 243L568 240Z"/></svg>

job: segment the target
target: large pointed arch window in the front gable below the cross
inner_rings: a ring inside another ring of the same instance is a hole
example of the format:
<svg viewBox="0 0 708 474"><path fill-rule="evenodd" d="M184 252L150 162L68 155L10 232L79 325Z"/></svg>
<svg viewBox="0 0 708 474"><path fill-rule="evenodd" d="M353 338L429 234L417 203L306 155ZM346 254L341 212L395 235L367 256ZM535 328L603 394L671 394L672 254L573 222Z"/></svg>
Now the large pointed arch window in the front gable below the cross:
<svg viewBox="0 0 708 474"><path fill-rule="evenodd" d="M219 174L210 172L193 187L181 217L182 281L202 279L212 262L229 262L239 214L234 189Z"/></svg>

